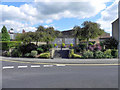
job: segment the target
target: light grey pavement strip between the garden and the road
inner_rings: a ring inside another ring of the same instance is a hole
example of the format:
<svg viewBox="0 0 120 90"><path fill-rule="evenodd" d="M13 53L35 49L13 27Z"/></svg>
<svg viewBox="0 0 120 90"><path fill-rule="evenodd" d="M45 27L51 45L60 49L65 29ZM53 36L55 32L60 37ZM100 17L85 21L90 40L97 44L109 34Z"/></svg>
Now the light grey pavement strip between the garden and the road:
<svg viewBox="0 0 120 90"><path fill-rule="evenodd" d="M37 62L37 63L58 63L58 64L118 64L119 59L39 59L39 58L13 58L0 57L1 60Z"/></svg>

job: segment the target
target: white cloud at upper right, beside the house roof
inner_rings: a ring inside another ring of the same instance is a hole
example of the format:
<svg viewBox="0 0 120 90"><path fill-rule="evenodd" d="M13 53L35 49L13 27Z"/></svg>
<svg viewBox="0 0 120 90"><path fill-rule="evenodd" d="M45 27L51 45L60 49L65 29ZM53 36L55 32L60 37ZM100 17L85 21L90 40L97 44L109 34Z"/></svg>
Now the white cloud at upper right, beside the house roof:
<svg viewBox="0 0 120 90"><path fill-rule="evenodd" d="M101 18L97 20L101 24L101 28L105 29L106 32L112 34L111 23L118 18L118 0L116 0L112 5L107 7L101 12Z"/></svg>

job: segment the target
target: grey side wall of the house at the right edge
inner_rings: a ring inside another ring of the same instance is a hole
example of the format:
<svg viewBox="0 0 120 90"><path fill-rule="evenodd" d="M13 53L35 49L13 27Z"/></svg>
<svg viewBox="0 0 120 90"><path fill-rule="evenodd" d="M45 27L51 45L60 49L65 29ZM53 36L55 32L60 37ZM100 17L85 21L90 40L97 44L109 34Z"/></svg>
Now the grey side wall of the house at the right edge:
<svg viewBox="0 0 120 90"><path fill-rule="evenodd" d="M119 19L112 23L112 37L119 40Z"/></svg>

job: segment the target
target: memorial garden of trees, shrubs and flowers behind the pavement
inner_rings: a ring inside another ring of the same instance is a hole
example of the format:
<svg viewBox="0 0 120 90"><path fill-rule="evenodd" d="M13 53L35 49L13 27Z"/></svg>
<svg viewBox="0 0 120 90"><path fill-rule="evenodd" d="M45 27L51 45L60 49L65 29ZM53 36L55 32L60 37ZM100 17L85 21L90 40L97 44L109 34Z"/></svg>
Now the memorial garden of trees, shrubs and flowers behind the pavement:
<svg viewBox="0 0 120 90"><path fill-rule="evenodd" d="M71 37L64 37L61 31L53 27L39 26L35 32L16 33L15 39L10 40L7 28L1 30L0 45L2 55L7 57L54 58L55 51L60 53L67 48L67 58L102 59L118 58L118 41L109 38L96 43L90 41L105 33L95 22L85 21L82 27L75 26ZM45 44L38 44L45 42Z"/></svg>

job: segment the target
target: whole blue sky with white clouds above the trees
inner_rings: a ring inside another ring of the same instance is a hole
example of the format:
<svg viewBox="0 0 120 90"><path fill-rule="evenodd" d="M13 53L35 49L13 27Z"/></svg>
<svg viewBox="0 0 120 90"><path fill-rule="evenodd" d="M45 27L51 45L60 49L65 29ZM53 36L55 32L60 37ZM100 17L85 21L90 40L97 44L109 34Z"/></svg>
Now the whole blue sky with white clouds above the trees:
<svg viewBox="0 0 120 90"><path fill-rule="evenodd" d="M118 18L119 0L2 0L0 29L16 33L35 31L37 27L70 30L84 21L97 22L112 35L112 22Z"/></svg>

